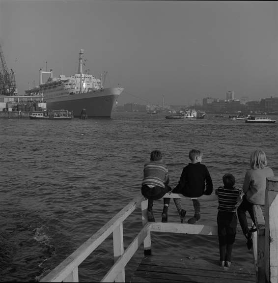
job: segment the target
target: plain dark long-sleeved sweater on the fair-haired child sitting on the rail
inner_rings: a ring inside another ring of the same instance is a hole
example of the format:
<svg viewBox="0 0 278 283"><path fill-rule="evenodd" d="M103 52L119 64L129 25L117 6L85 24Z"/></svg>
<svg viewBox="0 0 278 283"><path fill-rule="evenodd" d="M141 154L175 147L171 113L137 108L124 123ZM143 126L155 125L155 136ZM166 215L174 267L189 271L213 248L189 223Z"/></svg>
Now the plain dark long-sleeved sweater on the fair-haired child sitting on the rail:
<svg viewBox="0 0 278 283"><path fill-rule="evenodd" d="M206 190L205 190L206 189ZM173 193L182 194L189 198L198 198L212 193L212 180L208 169L200 162L189 163L180 176L178 185Z"/></svg>

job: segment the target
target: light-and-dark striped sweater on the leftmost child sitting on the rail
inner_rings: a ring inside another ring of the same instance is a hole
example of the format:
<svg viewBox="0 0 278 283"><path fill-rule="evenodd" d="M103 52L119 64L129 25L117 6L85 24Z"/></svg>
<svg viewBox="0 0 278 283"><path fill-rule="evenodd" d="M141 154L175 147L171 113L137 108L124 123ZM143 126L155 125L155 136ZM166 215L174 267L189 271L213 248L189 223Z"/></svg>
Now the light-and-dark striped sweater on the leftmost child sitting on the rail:
<svg viewBox="0 0 278 283"><path fill-rule="evenodd" d="M142 185L159 186L165 188L169 182L167 166L160 161L150 161L144 165Z"/></svg>

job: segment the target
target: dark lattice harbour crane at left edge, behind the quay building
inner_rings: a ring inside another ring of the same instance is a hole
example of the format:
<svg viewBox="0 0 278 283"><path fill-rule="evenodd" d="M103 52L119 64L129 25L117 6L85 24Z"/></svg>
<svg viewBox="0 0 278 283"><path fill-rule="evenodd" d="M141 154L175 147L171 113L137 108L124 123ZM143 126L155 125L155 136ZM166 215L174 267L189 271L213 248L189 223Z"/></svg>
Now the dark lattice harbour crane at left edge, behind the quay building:
<svg viewBox="0 0 278 283"><path fill-rule="evenodd" d="M5 57L0 45L0 95L16 95L17 87L15 83L14 71L9 73Z"/></svg>

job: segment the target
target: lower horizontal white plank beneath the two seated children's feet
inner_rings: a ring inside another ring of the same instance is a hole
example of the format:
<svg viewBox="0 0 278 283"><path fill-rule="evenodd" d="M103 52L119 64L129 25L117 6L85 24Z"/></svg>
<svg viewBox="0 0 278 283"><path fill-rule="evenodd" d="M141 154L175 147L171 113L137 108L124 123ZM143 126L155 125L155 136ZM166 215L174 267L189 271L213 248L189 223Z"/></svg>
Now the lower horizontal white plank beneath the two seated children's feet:
<svg viewBox="0 0 278 283"><path fill-rule="evenodd" d="M181 233L181 234L197 234L197 235L211 235L217 236L217 226L208 226L200 224L187 223L151 223L151 232L167 232L167 233ZM237 232L242 233L240 226L237 227Z"/></svg>

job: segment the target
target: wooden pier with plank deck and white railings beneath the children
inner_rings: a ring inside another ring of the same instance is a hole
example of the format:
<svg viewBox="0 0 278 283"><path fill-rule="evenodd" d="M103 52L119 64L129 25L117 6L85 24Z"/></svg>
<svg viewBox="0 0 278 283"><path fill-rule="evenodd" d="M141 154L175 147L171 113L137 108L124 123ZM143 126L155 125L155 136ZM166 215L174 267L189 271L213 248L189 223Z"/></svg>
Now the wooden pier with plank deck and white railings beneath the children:
<svg viewBox="0 0 278 283"><path fill-rule="evenodd" d="M165 197L184 198L177 194ZM213 200L216 196L202 196L200 199ZM143 227L124 250L123 221L139 206ZM143 244L144 255L132 282L278 283L278 177L267 179L265 219L260 206L254 206L257 227L253 232L254 264L233 262L230 268L221 268L218 261L209 259L209 255L204 258L184 255L165 258L152 254L151 232L208 236L217 235L217 226L149 223L146 214L147 200L142 196L135 198L40 282L79 282L78 266L112 234L114 265L101 282L125 282L125 266Z"/></svg>

